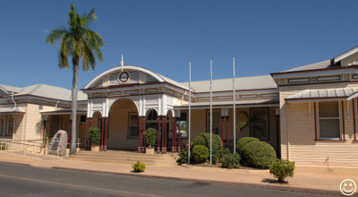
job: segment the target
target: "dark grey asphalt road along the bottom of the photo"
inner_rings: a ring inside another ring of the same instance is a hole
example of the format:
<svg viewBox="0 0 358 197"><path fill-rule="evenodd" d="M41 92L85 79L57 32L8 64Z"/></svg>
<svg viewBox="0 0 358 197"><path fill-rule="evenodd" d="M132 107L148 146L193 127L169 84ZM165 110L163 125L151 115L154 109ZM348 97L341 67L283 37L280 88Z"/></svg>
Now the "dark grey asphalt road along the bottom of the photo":
<svg viewBox="0 0 358 197"><path fill-rule="evenodd" d="M243 177L244 178L244 177ZM0 196L328 196L0 163Z"/></svg>

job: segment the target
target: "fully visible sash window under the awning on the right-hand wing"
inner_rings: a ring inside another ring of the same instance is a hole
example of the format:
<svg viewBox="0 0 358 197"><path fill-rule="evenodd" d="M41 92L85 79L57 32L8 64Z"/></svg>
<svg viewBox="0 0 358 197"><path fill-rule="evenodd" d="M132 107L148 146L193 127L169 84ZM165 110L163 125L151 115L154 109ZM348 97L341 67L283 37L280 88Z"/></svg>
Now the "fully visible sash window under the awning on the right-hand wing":
<svg viewBox="0 0 358 197"><path fill-rule="evenodd" d="M322 101L318 105L319 140L340 140L340 110L338 101Z"/></svg>

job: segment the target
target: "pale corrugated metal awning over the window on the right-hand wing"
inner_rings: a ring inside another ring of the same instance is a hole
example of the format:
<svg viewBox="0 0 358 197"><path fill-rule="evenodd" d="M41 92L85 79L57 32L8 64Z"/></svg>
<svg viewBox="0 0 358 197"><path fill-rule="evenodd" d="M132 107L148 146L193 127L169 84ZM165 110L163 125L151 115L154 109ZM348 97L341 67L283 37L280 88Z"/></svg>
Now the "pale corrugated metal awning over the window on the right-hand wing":
<svg viewBox="0 0 358 197"><path fill-rule="evenodd" d="M358 97L357 88L320 89L320 90L303 90L294 95L287 97L285 100L288 103L292 103L292 102L350 100L356 97Z"/></svg>

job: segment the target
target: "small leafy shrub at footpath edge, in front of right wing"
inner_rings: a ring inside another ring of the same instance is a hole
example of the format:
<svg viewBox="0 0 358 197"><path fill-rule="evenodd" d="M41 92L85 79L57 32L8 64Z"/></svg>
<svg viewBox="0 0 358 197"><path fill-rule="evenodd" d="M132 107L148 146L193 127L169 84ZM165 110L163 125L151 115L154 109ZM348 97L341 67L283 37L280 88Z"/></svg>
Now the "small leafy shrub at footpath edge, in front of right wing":
<svg viewBox="0 0 358 197"><path fill-rule="evenodd" d="M277 158L269 167L269 173L277 177L278 182L283 183L287 176L294 177L294 161Z"/></svg>

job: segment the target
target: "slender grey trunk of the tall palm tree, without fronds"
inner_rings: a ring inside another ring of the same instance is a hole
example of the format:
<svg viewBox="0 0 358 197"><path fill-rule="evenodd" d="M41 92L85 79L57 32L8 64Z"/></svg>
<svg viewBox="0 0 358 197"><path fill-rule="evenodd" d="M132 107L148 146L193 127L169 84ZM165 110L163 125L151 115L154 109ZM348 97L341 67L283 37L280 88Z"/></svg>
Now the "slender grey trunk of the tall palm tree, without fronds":
<svg viewBox="0 0 358 197"><path fill-rule="evenodd" d="M72 57L73 64L73 79L72 79L72 141L71 152L73 155L76 152L76 138L77 138L77 94L78 94L78 74L79 74L80 59Z"/></svg>

